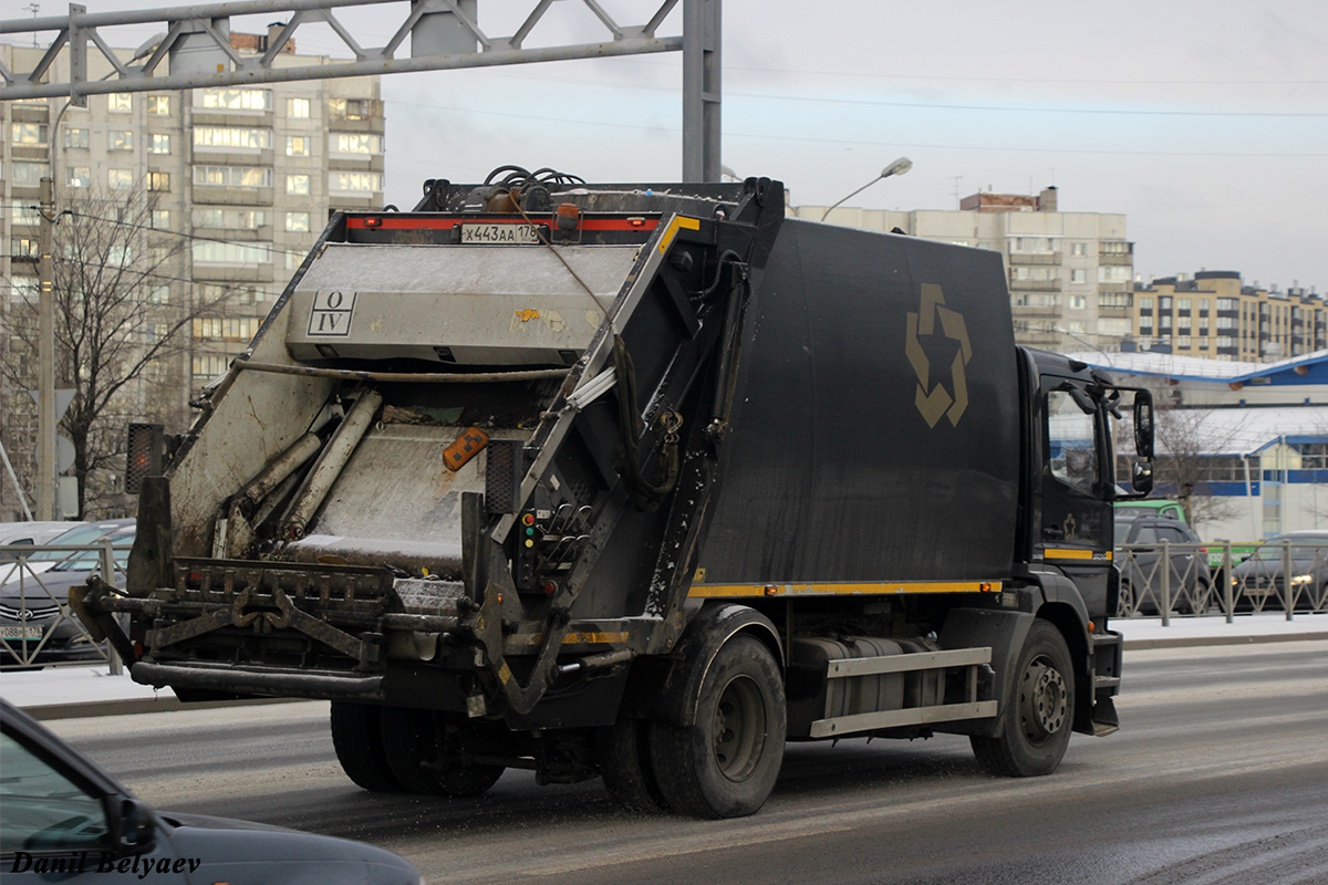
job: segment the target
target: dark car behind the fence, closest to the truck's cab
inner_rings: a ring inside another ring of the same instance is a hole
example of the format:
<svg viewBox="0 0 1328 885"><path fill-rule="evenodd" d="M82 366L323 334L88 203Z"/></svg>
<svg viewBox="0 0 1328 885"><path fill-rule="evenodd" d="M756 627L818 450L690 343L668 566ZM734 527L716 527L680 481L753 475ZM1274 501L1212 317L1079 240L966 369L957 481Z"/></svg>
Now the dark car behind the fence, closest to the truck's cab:
<svg viewBox="0 0 1328 885"><path fill-rule="evenodd" d="M1167 551L1162 561L1162 541L1179 547ZM1202 541L1185 523L1175 519L1117 519L1116 561L1121 569L1121 614L1158 614L1162 610L1163 576L1170 569L1171 610L1182 614L1203 612L1218 600L1212 594L1212 573Z"/></svg>

